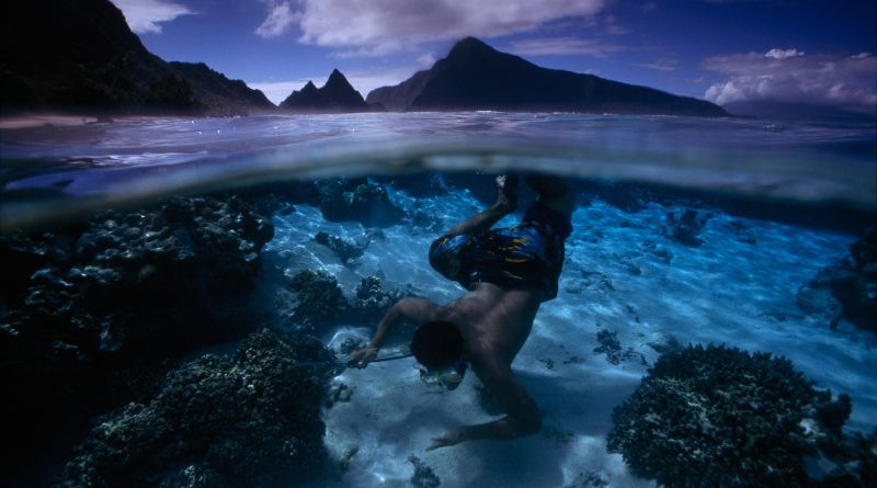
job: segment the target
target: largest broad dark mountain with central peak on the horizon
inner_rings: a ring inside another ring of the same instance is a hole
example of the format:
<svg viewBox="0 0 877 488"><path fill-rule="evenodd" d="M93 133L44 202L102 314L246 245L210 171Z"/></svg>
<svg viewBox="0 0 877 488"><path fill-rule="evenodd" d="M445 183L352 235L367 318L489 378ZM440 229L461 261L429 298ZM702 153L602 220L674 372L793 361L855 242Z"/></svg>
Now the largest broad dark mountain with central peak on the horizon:
<svg viewBox="0 0 877 488"><path fill-rule="evenodd" d="M593 75L540 68L500 53L475 37L446 58L395 87L371 93L368 103L390 110L508 110L728 116L720 106Z"/></svg>

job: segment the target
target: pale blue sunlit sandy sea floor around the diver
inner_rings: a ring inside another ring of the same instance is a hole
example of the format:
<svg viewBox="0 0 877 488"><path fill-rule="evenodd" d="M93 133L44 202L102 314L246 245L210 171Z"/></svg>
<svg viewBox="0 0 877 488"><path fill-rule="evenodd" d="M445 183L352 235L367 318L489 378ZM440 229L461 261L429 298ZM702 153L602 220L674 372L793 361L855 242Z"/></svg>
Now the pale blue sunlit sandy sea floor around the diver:
<svg viewBox="0 0 877 488"><path fill-rule="evenodd" d="M414 198L391 192L410 207ZM464 292L434 272L429 245L441 231L472 215L480 204L467 192L425 198L420 205L440 224L424 229L398 225L366 231L357 223L332 224L307 205L274 218L275 238L265 247L266 263L287 276L306 268L337 277L348 296L364 276L380 272L385 290L414 286L420 296L444 304ZM348 458L339 477L318 486L410 486L419 457L454 487L566 487L603 480L614 487L653 486L634 477L619 454L606 451L612 409L637 388L656 347L676 340L767 351L790 359L821 388L848 393L848 428L877 424L877 371L874 334L848 325L830 330L796 305L799 286L823 266L846 256L853 236L816 231L771 222L715 214L701 247L686 247L661 231L667 212L682 208L651 204L627 214L601 201L580 206L572 217L560 293L545 303L513 370L537 400L543 432L509 442L468 442L426 452L431 439L463 423L497 418L475 375L454 391L419 379L413 359L348 370L334 379L352 389L349 401L327 409L326 443ZM499 225L514 224L509 216ZM741 222L756 242L737 240L731 220ZM314 242L317 231L366 242L365 254L344 265ZM277 304L288 293L272 290ZM367 339L374 325L345 324L326 331L332 347L349 337ZM623 354L617 364L595 353L597 332L617 333ZM403 334L395 340L406 342ZM388 341L392 342L392 340ZM589 485L590 486L590 485Z"/></svg>

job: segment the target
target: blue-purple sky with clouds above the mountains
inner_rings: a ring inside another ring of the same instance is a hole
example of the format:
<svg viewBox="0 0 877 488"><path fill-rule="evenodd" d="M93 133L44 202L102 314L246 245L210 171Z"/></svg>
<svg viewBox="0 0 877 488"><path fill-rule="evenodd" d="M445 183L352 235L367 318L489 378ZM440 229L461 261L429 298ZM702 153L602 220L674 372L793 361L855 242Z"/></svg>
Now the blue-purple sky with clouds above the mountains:
<svg viewBox="0 0 877 488"><path fill-rule="evenodd" d="M719 104L874 113L875 0L112 0L166 60L280 103L338 68L364 97L476 36L536 65Z"/></svg>

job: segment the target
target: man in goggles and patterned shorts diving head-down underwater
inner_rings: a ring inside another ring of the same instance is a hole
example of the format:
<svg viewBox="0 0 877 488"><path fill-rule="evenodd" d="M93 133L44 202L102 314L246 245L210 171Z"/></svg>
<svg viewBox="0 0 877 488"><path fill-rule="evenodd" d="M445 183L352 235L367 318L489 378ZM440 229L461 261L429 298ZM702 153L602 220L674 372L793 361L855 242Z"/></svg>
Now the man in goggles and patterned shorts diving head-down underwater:
<svg viewBox="0 0 877 488"><path fill-rule="evenodd" d="M430 247L430 264L469 291L445 306L402 298L378 324L368 347L351 355L350 365L365 367L396 326L411 320L420 326L411 352L426 367L424 375L454 389L468 364L506 413L492 422L448 431L433 439L428 451L478 439L514 439L542 429L536 401L511 365L529 336L539 305L557 296L576 197L559 179L526 180L539 196L521 224L491 229L517 206L517 177L499 177L497 202Z"/></svg>

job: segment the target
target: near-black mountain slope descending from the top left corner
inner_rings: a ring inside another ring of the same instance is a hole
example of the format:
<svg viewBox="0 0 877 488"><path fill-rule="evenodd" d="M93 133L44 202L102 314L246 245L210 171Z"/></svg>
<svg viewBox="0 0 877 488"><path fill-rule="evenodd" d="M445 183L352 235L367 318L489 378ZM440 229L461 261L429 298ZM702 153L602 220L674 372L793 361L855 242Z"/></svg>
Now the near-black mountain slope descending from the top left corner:
<svg viewBox="0 0 877 488"><path fill-rule="evenodd" d="M274 105L205 65L149 53L109 0L3 2L0 106L244 114Z"/></svg>

